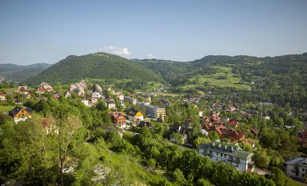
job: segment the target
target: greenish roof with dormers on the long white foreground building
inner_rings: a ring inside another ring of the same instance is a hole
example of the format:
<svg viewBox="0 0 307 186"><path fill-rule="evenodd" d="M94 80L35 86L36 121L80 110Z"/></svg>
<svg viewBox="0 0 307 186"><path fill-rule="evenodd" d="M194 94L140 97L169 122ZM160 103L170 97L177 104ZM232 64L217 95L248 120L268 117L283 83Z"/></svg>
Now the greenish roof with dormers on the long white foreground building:
<svg viewBox="0 0 307 186"><path fill-rule="evenodd" d="M243 151L237 143L234 145L229 143L221 143L220 139L212 141L211 143L203 143L197 148L206 149L213 152L220 152L241 159L250 159L254 155L254 153Z"/></svg>

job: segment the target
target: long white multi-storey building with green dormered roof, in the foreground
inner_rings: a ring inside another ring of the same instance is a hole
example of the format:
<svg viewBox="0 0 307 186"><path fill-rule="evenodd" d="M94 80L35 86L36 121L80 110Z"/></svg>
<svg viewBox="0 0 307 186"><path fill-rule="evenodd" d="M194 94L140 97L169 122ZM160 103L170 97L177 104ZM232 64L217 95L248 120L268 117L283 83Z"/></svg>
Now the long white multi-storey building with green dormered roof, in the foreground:
<svg viewBox="0 0 307 186"><path fill-rule="evenodd" d="M231 145L229 143L221 143L220 139L203 143L197 147L199 155L209 157L212 161L224 161L233 165L239 172L254 172L254 161L252 156L254 153L243 151L238 143Z"/></svg>

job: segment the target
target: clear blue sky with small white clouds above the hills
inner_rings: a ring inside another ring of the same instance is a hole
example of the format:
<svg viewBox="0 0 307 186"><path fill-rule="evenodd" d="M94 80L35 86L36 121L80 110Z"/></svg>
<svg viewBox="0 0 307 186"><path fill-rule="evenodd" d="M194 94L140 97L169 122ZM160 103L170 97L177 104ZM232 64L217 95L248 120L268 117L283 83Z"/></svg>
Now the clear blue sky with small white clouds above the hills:
<svg viewBox="0 0 307 186"><path fill-rule="evenodd" d="M307 1L0 1L0 63L307 52Z"/></svg>

